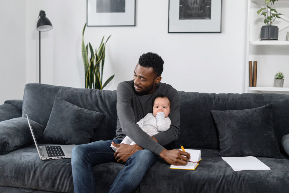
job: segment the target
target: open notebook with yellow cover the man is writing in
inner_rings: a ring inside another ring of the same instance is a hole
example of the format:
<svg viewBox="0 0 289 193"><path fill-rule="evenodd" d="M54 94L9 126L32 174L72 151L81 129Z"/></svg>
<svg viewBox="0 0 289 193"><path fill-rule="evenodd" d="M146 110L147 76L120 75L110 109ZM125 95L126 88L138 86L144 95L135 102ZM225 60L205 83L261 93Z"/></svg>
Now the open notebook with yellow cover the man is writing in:
<svg viewBox="0 0 289 193"><path fill-rule="evenodd" d="M181 150L181 149L179 149ZM199 166L199 161L201 161L201 150L195 149L185 149L185 152L188 152L191 156L190 162L186 166L174 166L171 165L171 169L181 169L181 170L194 170Z"/></svg>

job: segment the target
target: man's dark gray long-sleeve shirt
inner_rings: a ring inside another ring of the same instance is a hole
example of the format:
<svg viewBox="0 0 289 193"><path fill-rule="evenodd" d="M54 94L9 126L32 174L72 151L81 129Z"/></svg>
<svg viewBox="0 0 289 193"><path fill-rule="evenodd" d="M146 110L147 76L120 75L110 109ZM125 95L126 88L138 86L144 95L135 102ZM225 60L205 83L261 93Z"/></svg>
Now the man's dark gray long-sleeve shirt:
<svg viewBox="0 0 289 193"><path fill-rule="evenodd" d="M171 112L168 117L171 119L171 126L167 131L160 132L153 137L153 140L136 124L147 113L153 112L153 99L155 95L161 93L171 100ZM118 84L116 89L117 100L117 125L116 137L114 139L124 139L129 136L140 147L150 150L156 155L164 149L164 145L177 139L180 129L179 114L179 93L171 85L158 83L158 87L151 95L139 95L134 91L134 82L124 81Z"/></svg>

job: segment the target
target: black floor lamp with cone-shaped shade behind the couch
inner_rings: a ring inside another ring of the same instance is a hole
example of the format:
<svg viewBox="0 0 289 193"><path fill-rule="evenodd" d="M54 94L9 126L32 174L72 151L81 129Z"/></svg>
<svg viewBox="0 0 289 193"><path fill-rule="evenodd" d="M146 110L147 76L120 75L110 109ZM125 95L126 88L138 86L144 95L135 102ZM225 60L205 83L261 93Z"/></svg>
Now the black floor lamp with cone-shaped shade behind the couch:
<svg viewBox="0 0 289 193"><path fill-rule="evenodd" d="M40 71L40 32L49 31L52 29L52 24L45 16L45 11L40 10L37 22L37 30L39 31L39 83L41 83L41 71Z"/></svg>

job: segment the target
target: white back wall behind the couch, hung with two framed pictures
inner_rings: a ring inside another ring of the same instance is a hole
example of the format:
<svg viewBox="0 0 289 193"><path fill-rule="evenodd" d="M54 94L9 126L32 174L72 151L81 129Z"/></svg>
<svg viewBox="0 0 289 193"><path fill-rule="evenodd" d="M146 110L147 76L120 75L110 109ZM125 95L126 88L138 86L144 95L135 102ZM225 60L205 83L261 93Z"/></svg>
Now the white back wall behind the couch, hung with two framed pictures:
<svg viewBox="0 0 289 193"><path fill-rule="evenodd" d="M177 90L244 92L247 1L223 0L222 9L222 33L168 34L167 0L136 0L135 27L86 27L84 41L94 48L103 35L112 34L104 79L115 77L105 89L114 90L119 82L131 80L139 56L155 52L165 62L162 82ZM86 1L26 0L25 10L26 83L38 82L36 24L44 10L53 29L41 32L41 83L84 88L81 38Z"/></svg>

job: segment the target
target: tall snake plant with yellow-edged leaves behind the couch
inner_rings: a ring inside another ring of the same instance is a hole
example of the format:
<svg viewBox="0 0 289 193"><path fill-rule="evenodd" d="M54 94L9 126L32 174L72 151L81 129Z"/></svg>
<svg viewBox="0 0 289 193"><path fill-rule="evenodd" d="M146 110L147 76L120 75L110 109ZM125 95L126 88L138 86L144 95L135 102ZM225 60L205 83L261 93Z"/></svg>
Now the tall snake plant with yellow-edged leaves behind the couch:
<svg viewBox="0 0 289 193"><path fill-rule="evenodd" d="M88 59L88 45L85 46L83 36L84 36L84 30L86 27L86 23L84 25L83 31L82 31L82 43L81 43L81 52L82 52L82 59L84 64L84 73L85 73L85 88L94 88L94 89L103 89L113 78L114 75L112 75L108 80L102 84L102 75L103 75L103 66L104 66L104 59L105 59L105 45L110 38L110 36L107 38L106 42L103 43L104 36L101 40L101 43L99 45L99 48L94 50L90 43L89 49L90 49L90 58ZM101 68L100 68L101 64ZM100 70L101 69L101 70Z"/></svg>

